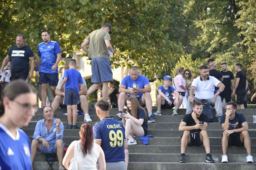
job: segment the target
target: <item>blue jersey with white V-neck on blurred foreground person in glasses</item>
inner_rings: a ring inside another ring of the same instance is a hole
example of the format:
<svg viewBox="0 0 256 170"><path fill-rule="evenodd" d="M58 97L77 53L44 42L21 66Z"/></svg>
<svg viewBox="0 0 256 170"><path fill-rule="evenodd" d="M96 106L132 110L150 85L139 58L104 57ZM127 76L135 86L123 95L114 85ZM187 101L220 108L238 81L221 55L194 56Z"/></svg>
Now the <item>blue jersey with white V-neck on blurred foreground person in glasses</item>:
<svg viewBox="0 0 256 170"><path fill-rule="evenodd" d="M26 133L17 129L16 137L0 123L0 169L31 170L30 141Z"/></svg>

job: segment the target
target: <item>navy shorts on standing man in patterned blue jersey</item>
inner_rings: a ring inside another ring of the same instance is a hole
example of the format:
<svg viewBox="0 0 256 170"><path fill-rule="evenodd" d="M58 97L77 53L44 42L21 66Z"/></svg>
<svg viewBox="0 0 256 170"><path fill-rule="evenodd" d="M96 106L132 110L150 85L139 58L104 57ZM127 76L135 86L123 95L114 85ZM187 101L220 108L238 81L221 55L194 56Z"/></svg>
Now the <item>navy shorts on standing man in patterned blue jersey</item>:
<svg viewBox="0 0 256 170"><path fill-rule="evenodd" d="M39 84L47 84L57 86L59 81L58 73L39 72Z"/></svg>

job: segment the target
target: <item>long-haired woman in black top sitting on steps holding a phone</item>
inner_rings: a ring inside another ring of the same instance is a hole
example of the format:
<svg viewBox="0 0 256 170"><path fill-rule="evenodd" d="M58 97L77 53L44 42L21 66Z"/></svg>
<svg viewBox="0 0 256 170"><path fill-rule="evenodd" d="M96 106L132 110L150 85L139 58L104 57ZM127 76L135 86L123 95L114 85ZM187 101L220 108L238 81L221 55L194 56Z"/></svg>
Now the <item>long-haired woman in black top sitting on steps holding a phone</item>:
<svg viewBox="0 0 256 170"><path fill-rule="evenodd" d="M125 125L125 138L128 145L135 145L137 141L133 139L135 136L145 136L148 132L148 120L146 110L140 106L138 100L134 96L127 98L127 111L120 114Z"/></svg>

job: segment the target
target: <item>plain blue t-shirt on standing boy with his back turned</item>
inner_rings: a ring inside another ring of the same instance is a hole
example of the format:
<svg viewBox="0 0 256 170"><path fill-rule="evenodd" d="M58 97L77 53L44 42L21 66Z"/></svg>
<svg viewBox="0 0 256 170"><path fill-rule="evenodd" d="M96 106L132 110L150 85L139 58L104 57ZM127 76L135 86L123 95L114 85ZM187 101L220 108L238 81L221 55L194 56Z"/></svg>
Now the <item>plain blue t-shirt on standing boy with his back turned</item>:
<svg viewBox="0 0 256 170"><path fill-rule="evenodd" d="M67 90L76 90L79 95L79 83L83 83L82 76L79 71L76 69L65 70L63 78L68 78L65 83L65 91Z"/></svg>

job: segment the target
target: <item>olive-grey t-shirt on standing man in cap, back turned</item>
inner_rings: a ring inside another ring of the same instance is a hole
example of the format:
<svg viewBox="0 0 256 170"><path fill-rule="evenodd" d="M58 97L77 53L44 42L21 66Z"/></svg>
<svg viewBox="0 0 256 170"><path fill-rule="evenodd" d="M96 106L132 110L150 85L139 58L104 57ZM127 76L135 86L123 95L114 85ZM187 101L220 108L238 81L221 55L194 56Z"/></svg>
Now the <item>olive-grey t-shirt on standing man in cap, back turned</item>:
<svg viewBox="0 0 256 170"><path fill-rule="evenodd" d="M101 29L94 30L85 39L89 41L88 59L98 57L109 58L105 40L111 39L107 31Z"/></svg>

